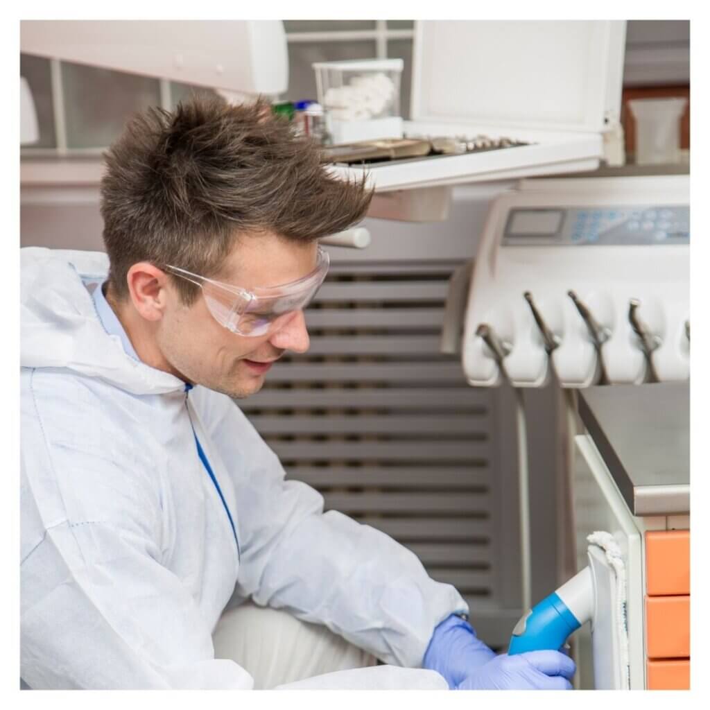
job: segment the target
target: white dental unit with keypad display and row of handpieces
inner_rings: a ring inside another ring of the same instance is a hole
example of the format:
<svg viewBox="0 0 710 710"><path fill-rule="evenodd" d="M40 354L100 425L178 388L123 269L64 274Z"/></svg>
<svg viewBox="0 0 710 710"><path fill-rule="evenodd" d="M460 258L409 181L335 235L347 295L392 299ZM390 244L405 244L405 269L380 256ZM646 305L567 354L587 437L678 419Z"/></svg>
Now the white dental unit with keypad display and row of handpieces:
<svg viewBox="0 0 710 710"><path fill-rule="evenodd" d="M689 178L523 180L491 204L464 318L473 386L689 377ZM633 301L633 305L630 305Z"/></svg>

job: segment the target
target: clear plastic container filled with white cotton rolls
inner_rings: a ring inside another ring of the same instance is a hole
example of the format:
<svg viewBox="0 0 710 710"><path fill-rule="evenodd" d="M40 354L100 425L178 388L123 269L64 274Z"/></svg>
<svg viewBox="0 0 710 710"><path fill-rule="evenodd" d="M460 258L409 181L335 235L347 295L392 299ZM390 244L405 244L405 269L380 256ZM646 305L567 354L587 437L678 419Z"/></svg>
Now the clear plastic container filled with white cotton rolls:
<svg viewBox="0 0 710 710"><path fill-rule="evenodd" d="M315 62L318 102L335 121L400 116L401 59Z"/></svg>

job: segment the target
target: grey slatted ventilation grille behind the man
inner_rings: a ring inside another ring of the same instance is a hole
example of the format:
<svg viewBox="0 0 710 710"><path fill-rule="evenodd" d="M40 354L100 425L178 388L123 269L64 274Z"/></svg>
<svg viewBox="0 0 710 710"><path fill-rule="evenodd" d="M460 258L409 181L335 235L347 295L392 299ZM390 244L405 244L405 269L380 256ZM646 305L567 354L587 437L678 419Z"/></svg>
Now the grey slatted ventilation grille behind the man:
<svg viewBox="0 0 710 710"><path fill-rule="evenodd" d="M334 265L306 313L310 351L239 406L289 477L395 537L474 608L495 585L494 391L439 353L456 266Z"/></svg>

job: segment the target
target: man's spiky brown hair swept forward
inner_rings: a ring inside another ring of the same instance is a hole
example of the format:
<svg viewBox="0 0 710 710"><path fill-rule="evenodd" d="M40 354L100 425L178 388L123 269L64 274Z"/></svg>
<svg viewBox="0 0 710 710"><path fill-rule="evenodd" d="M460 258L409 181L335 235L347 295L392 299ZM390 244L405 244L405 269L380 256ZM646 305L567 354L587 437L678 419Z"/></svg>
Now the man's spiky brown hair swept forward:
<svg viewBox="0 0 710 710"><path fill-rule="evenodd" d="M148 109L104 157L104 244L119 300L138 261L217 275L241 234L319 239L359 222L372 198L364 180L330 175L317 143L295 135L265 99L195 95L173 112ZM189 305L195 285L174 283Z"/></svg>

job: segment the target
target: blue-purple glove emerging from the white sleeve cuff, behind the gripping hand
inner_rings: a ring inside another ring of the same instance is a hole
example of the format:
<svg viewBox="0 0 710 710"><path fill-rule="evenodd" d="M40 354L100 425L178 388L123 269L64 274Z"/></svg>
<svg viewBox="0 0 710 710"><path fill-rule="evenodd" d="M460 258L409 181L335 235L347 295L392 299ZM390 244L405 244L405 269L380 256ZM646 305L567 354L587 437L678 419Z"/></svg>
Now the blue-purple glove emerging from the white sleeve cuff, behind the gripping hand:
<svg viewBox="0 0 710 710"><path fill-rule="evenodd" d="M468 621L449 616L435 628L422 660L422 668L442 674L449 688L456 688L472 672L496 654L481 641Z"/></svg>

